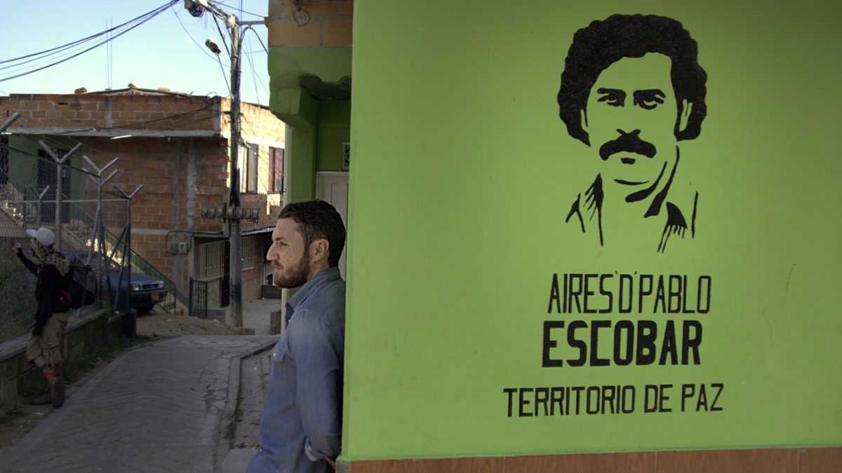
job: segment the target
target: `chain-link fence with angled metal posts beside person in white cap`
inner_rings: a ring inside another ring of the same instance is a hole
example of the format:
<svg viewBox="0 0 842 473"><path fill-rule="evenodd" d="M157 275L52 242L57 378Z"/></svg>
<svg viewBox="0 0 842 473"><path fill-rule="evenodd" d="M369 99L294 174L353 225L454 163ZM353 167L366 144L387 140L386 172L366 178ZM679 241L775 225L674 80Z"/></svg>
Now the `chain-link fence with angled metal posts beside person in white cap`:
<svg viewBox="0 0 842 473"><path fill-rule="evenodd" d="M44 226L54 231L56 247L76 267L88 263L92 249L99 252L99 245L94 244L99 227L99 177L82 170L83 157L73 147L62 149L61 143L47 144L32 136L0 139L0 343L24 335L35 322L35 275L13 254L19 243L24 258L38 263L29 252L27 229ZM102 205L125 208L126 203L125 199L103 199ZM122 215L123 221L110 225L125 225L125 211L111 215ZM98 269L88 279L87 289L94 297L101 292Z"/></svg>

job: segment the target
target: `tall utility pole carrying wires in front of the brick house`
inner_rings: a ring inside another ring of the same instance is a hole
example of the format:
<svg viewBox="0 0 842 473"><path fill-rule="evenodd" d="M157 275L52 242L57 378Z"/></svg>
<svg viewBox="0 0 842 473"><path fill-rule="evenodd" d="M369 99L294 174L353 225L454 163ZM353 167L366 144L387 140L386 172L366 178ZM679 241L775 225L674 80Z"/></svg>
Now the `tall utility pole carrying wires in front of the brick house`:
<svg viewBox="0 0 842 473"><path fill-rule="evenodd" d="M256 212L242 211L240 207L240 169L238 165L240 151L240 59L242 50L243 24L264 24L262 21L242 22L237 15L226 13L216 4L208 0L184 0L184 8L195 17L200 17L205 11L210 12L225 22L228 33L231 35L231 184L228 194L228 204L221 209L202 209L203 217L216 216L226 222L228 230L228 246L230 248L228 258L229 268L229 294L231 296L231 310L226 315L226 324L230 327L242 328L242 247L240 221L245 218L253 220ZM210 42L210 40L208 40ZM212 44L212 42L210 42ZM207 44L207 43L205 43ZM210 47L210 45L209 45ZM219 48L211 49L219 55Z"/></svg>

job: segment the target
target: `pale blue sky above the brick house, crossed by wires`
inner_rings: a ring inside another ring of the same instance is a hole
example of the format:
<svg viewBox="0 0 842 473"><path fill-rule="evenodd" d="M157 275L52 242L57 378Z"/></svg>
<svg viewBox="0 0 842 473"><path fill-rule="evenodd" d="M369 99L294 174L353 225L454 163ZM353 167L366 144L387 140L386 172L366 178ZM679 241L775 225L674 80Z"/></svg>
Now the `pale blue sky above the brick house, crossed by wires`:
<svg viewBox="0 0 842 473"><path fill-rule="evenodd" d="M221 0L220 7L237 14L242 20L260 20L267 14L268 0ZM40 0L18 2L0 0L3 11L3 37L0 61L51 49L108 29L106 21L122 24L142 13L167 3L166 0ZM239 12L242 3L242 15ZM226 6L227 5L227 6ZM249 14L257 13L258 16ZM184 28L179 24L179 19ZM186 29L186 31L185 31ZM263 24L253 26L264 44L268 31ZM226 30L223 29L225 33ZM191 39L192 37L192 39ZM103 37L104 38L104 37ZM129 82L139 88L169 88L174 92L228 96L226 79L230 78L230 61L220 55L225 73L216 56L205 47L211 39L224 50L210 13L194 18L184 9L184 2L111 41L110 88L126 88ZM196 45L194 43L197 43ZM226 41L230 40L226 34ZM89 45L93 45L90 43ZM88 46L86 46L88 47ZM85 47L80 47L80 50ZM241 94L242 100L269 104L269 72L266 52L249 31L243 40ZM68 53L69 54L69 53ZM3 81L14 75L44 66L60 59L33 61L24 66L0 69L0 95L10 93L73 93L77 88L89 92L109 88L108 48L99 46L81 56L28 76ZM251 58L251 61L248 61ZM9 63L0 63L0 67Z"/></svg>

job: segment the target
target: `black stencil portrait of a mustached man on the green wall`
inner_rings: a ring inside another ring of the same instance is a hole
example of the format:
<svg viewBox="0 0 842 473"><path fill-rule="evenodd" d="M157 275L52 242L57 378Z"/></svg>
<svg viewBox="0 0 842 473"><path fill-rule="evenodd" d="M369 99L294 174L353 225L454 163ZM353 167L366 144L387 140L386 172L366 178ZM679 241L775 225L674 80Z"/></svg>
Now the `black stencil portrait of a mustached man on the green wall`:
<svg viewBox="0 0 842 473"><path fill-rule="evenodd" d="M681 141L701 134L706 80L695 40L674 19L616 14L576 32L559 116L596 175L573 195L568 225L605 247L624 235L651 234L657 252L695 237L699 193L681 207L670 191L682 162L700 158L682 156Z"/></svg>

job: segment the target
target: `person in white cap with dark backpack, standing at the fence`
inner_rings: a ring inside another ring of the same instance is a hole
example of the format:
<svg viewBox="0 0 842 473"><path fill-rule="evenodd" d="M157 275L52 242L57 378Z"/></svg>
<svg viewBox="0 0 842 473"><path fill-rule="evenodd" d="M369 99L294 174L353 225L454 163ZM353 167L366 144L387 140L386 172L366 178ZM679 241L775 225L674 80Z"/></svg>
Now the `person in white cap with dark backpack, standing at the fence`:
<svg viewBox="0 0 842 473"><path fill-rule="evenodd" d="M33 263L24 256L20 243L14 245L13 251L21 263L38 277L35 286L38 310L26 348L26 359L44 375L49 390L49 394L36 397L32 402L51 403L58 408L65 397L64 380L61 379L61 363L64 361L61 345L67 328L67 304L62 302L61 290L67 291L70 264L67 257L53 248L56 234L52 230L41 227L26 233L32 237L29 240L32 254L40 261Z"/></svg>

